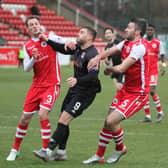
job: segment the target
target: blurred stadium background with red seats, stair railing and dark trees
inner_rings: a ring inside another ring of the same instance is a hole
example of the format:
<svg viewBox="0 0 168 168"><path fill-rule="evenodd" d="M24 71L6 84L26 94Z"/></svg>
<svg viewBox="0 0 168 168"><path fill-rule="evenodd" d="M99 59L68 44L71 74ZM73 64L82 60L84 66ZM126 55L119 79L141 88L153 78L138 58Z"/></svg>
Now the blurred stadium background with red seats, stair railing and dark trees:
<svg viewBox="0 0 168 168"><path fill-rule="evenodd" d="M128 21L143 17L156 26L156 36L162 40L167 52L167 6L167 0L0 0L0 66L14 57L22 59L20 49L30 38L25 19L31 14L39 15L44 31L68 39L75 39L81 26L95 28L98 32L95 45L100 52L105 46L105 27L113 28L116 38L121 40ZM4 56L6 52L7 56ZM11 65L18 66L19 60Z"/></svg>

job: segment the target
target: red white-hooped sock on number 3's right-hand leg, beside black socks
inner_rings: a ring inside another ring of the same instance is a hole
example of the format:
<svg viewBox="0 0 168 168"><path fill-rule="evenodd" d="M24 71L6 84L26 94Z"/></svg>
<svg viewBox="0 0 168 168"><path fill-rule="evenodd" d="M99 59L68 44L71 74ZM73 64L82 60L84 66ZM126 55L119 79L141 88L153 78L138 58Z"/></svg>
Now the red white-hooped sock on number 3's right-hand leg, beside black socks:
<svg viewBox="0 0 168 168"><path fill-rule="evenodd" d="M43 141L43 149L47 148L51 136L51 126L48 119L40 121L41 124L41 137Z"/></svg>

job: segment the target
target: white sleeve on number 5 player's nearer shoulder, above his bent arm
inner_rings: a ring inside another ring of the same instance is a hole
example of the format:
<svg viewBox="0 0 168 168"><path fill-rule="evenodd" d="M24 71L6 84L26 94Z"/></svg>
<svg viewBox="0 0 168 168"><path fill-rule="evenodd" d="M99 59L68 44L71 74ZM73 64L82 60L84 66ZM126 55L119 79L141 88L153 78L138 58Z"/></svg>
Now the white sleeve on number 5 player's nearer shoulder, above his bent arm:
<svg viewBox="0 0 168 168"><path fill-rule="evenodd" d="M135 58L136 60L142 58L146 53L145 46L140 44L140 45L134 45L132 47L132 50L130 52L130 56L132 58Z"/></svg>

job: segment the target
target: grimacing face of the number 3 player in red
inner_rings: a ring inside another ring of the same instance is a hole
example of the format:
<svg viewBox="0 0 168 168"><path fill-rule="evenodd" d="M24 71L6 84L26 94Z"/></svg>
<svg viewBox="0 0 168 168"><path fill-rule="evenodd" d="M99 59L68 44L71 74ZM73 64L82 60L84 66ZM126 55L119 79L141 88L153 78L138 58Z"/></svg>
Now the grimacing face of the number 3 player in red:
<svg viewBox="0 0 168 168"><path fill-rule="evenodd" d="M28 24L28 30L30 31L30 33L33 36L38 37L38 34L41 31L41 25L39 21L34 18L34 19L30 19L27 24Z"/></svg>

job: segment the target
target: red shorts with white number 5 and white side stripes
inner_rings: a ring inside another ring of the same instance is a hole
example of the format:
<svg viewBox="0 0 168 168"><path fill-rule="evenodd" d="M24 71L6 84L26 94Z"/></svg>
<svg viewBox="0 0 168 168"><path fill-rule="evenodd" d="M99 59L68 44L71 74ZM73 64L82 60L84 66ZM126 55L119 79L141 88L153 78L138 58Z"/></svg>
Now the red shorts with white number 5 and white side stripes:
<svg viewBox="0 0 168 168"><path fill-rule="evenodd" d="M146 104L148 96L149 94L131 93L121 89L113 99L111 108L129 118Z"/></svg>

